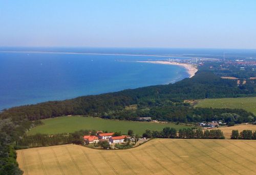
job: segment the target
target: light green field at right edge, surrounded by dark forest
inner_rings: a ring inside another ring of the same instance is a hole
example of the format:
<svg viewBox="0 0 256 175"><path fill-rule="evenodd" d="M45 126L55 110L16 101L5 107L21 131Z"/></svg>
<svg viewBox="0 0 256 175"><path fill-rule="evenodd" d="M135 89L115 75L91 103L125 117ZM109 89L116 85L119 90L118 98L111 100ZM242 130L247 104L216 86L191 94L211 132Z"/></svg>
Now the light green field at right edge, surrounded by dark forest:
<svg viewBox="0 0 256 175"><path fill-rule="evenodd" d="M256 97L199 99L195 107L244 109L256 115Z"/></svg>

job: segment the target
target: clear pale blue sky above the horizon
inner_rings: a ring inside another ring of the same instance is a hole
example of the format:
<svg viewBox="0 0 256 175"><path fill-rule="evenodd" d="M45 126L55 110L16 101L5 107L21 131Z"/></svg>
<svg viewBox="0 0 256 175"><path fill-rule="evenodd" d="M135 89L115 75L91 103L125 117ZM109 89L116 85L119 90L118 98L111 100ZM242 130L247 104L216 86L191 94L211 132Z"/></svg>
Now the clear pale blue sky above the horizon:
<svg viewBox="0 0 256 175"><path fill-rule="evenodd" d="M256 49L255 0L0 0L0 46Z"/></svg>

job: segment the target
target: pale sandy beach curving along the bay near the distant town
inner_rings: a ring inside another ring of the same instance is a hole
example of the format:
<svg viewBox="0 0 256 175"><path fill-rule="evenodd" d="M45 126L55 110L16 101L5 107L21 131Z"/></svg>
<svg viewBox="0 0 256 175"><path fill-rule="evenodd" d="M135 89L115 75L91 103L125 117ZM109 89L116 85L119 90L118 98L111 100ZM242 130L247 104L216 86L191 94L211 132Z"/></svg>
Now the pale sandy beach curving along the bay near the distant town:
<svg viewBox="0 0 256 175"><path fill-rule="evenodd" d="M178 63L175 61L137 61L140 63L153 63L153 64L169 64L169 65L178 65L185 67L187 69L187 72L189 73L189 78L195 76L195 73L197 72L197 67L195 64L187 64L187 63Z"/></svg>

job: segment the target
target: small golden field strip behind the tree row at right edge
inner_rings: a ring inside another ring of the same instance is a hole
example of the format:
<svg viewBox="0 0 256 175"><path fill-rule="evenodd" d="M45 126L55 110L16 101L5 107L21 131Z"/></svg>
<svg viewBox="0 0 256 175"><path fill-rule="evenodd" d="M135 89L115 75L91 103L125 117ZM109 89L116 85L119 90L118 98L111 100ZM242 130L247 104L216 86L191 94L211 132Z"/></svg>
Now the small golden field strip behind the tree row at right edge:
<svg viewBox="0 0 256 175"><path fill-rule="evenodd" d="M220 129L223 132L226 139L230 139L232 130L238 130L239 133L243 130L251 130L253 132L253 131L256 131L256 125L255 124L239 124L233 127L219 127L218 129ZM209 129L209 130L212 130L212 129Z"/></svg>

